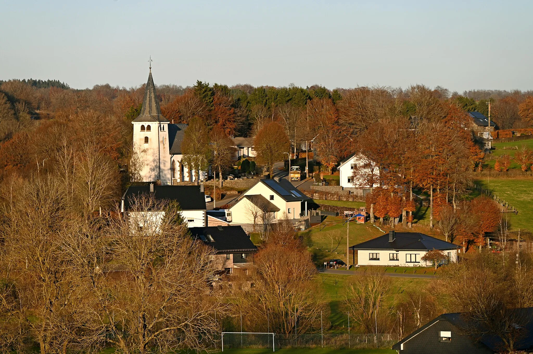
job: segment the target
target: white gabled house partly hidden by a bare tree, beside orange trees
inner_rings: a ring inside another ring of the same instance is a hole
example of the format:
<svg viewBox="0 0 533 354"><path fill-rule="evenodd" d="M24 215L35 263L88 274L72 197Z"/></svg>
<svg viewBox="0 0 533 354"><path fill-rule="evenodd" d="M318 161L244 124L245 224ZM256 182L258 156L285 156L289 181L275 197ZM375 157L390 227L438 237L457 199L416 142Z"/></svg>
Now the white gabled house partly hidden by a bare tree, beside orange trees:
<svg viewBox="0 0 533 354"><path fill-rule="evenodd" d="M338 166L340 172L341 186L349 189L370 189L368 181L372 180L372 176L379 176L379 168L368 157L362 154L352 154ZM354 178L353 172L356 171L356 177ZM374 183L374 187L378 187L379 184Z"/></svg>

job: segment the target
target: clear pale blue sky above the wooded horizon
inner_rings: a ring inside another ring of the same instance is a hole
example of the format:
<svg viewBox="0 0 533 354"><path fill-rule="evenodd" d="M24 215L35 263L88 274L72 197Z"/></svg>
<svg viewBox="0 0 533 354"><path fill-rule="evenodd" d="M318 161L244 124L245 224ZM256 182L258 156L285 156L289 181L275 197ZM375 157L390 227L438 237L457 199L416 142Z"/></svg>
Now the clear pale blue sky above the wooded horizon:
<svg viewBox="0 0 533 354"><path fill-rule="evenodd" d="M533 89L533 1L0 0L0 79Z"/></svg>

